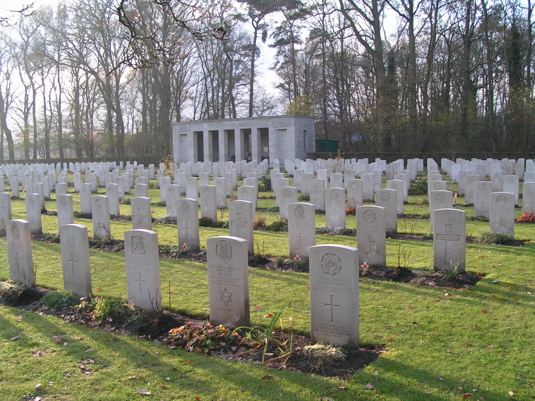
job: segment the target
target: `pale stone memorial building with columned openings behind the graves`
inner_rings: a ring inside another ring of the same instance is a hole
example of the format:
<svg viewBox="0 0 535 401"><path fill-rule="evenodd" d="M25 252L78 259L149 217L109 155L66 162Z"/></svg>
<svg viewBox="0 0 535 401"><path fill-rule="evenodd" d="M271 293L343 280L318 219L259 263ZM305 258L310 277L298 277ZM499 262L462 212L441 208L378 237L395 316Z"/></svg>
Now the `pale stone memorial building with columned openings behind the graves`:
<svg viewBox="0 0 535 401"><path fill-rule="evenodd" d="M234 118L174 122L174 163L305 159L315 150L314 119L310 115Z"/></svg>

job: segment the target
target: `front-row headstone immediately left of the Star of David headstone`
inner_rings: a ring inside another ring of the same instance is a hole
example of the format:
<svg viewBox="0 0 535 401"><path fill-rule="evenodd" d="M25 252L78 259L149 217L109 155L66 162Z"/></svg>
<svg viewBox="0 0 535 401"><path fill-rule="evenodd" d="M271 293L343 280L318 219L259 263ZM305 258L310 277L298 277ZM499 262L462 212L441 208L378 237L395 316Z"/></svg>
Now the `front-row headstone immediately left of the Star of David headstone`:
<svg viewBox="0 0 535 401"><path fill-rule="evenodd" d="M158 234L151 230L125 232L128 300L149 312L162 311Z"/></svg>

